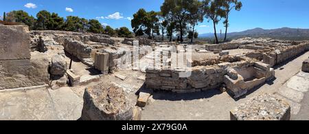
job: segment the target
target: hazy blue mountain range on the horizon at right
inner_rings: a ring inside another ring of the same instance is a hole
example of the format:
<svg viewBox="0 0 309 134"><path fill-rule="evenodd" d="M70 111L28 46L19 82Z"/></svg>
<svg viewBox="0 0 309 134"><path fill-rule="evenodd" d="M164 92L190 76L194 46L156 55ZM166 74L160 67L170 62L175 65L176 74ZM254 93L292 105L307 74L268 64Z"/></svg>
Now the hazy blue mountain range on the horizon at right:
<svg viewBox="0 0 309 134"><path fill-rule="evenodd" d="M224 34L222 34L224 37ZM242 37L253 37L253 38L275 38L285 40L309 40L309 29L293 29L283 27L279 29L262 29L255 28L246 31L233 32L227 34L228 38L242 38ZM200 38L214 38L214 34L201 34ZM220 38L220 34L218 34Z"/></svg>

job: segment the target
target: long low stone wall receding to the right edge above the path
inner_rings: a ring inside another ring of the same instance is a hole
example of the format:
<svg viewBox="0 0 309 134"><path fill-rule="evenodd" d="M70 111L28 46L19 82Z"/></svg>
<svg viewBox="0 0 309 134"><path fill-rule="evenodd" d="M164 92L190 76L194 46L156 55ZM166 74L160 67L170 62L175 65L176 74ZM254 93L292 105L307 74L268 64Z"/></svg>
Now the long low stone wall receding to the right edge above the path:
<svg viewBox="0 0 309 134"><path fill-rule="evenodd" d="M293 58L308 50L309 50L308 42L298 45L282 47L281 49L275 49L274 51L264 53L263 62L265 64L275 66L282 62L286 62L288 59Z"/></svg>

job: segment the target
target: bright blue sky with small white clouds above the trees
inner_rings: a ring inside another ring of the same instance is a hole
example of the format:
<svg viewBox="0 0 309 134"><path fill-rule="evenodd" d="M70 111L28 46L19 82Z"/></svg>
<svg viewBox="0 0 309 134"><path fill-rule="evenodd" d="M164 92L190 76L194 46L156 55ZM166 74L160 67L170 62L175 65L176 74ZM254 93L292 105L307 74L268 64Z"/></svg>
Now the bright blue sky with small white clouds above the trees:
<svg viewBox="0 0 309 134"><path fill-rule="evenodd" d="M0 0L0 3L0 16L12 10L24 10L36 16L38 11L47 10L63 17L97 18L113 28L130 28L130 18L139 8L159 11L163 0ZM240 12L231 12L230 32L255 27L309 29L308 0L242 0L242 4ZM212 23L205 20L197 30L200 34L209 33L214 31L212 27ZM224 31L222 23L217 27Z"/></svg>

